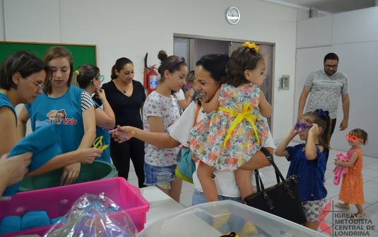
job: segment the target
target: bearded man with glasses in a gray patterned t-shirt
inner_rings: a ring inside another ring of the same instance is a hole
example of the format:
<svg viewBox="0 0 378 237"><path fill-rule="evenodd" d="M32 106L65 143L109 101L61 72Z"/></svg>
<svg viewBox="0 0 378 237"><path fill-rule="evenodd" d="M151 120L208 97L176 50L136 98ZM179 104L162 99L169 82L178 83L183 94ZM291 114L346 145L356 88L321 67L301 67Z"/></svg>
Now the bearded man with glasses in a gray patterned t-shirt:
<svg viewBox="0 0 378 237"><path fill-rule="evenodd" d="M309 74L302 94L300 95L300 103L298 106L297 121L303 115L307 96L306 112L315 111L317 109L328 110L332 119L331 134L336 127L336 115L338 101L341 96L343 103L344 117L340 124L340 130L343 131L348 127L349 119L349 89L348 78L341 71L337 71L338 56L333 52L326 54L324 57L324 69L312 71ZM328 161L329 149L326 149L326 161Z"/></svg>

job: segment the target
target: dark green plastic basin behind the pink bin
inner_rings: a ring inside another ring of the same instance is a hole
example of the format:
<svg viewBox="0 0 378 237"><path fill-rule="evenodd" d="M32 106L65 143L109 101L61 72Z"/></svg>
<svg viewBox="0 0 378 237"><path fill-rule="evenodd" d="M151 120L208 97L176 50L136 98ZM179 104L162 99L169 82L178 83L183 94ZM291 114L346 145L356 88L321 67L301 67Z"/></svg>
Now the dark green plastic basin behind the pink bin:
<svg viewBox="0 0 378 237"><path fill-rule="evenodd" d="M42 175L25 177L18 191L24 192L49 187L59 187L62 174L63 168L59 168ZM81 164L80 173L75 183L84 183L113 177L118 177L118 171L115 166L105 161L93 161L91 164Z"/></svg>

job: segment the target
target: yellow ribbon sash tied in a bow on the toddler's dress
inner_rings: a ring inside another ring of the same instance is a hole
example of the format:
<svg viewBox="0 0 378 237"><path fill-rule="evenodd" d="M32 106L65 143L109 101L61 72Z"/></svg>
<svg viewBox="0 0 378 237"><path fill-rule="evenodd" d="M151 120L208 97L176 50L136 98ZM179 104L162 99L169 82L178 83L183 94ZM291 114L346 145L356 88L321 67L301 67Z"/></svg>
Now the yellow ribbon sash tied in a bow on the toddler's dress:
<svg viewBox="0 0 378 237"><path fill-rule="evenodd" d="M236 125L240 124L240 122L242 122L243 119L246 119L251 123L252 128L254 129L254 134L256 135L256 139L260 143L259 136L257 135L256 125L254 125L253 121L257 119L257 115L251 115L253 111L252 105L250 105L249 103L244 103L243 112L236 112L235 110L223 107L218 107L218 110L228 112L232 117L236 116L235 120L231 123L231 126L228 129L225 141L223 141L223 147L226 146L226 142L231 137L231 133L235 129Z"/></svg>

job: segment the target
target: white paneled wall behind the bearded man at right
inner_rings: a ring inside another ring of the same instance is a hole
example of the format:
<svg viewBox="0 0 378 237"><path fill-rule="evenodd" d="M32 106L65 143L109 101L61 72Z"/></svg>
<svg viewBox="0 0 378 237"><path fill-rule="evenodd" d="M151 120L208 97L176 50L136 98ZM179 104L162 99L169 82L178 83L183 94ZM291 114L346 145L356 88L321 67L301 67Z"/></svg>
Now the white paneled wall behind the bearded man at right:
<svg viewBox="0 0 378 237"><path fill-rule="evenodd" d="M343 120L340 102L331 147L347 151L345 134L351 129L362 128L369 134L367 146L362 147L364 154L378 158L378 7L298 21L297 48L293 120L296 120L297 103L308 74L322 68L326 53L335 52L339 57L338 70L349 80L350 116L348 128L338 131Z"/></svg>

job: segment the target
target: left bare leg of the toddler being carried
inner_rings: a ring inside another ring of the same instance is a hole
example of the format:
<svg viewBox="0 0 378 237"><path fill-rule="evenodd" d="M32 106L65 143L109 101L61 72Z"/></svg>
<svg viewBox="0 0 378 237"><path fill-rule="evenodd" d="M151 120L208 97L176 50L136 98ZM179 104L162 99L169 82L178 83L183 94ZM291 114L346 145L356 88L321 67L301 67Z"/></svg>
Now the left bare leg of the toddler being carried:
<svg viewBox="0 0 378 237"><path fill-rule="evenodd" d="M201 183L203 194L208 202L218 201L218 192L215 182L211 175L214 173L215 168L208 166L206 163L201 162L197 170L199 183Z"/></svg>

